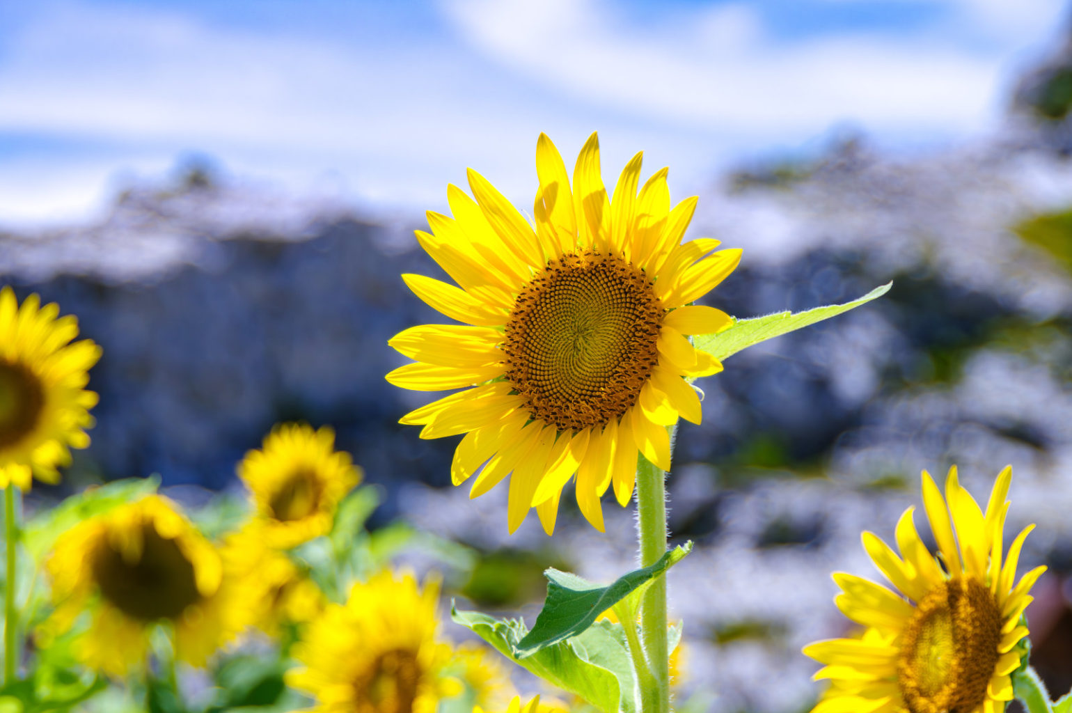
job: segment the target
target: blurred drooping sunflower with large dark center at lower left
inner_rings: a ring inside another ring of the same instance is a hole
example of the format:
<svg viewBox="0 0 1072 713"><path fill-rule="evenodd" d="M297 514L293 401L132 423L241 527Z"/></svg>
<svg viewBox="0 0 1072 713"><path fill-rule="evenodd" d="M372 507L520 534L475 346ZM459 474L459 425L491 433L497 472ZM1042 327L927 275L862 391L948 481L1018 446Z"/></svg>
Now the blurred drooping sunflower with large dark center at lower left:
<svg viewBox="0 0 1072 713"><path fill-rule="evenodd" d="M176 657L202 665L244 625L247 610L220 554L160 495L75 525L47 561L56 609L39 630L47 647L84 611L75 643L90 668L125 674L144 663L158 623L174 627Z"/></svg>

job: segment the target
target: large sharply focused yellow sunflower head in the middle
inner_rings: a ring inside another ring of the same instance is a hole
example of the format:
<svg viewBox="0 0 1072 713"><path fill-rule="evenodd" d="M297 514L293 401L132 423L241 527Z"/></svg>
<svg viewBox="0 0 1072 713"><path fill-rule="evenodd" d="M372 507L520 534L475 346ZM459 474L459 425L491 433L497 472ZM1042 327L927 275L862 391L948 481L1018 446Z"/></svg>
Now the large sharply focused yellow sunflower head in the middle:
<svg viewBox="0 0 1072 713"><path fill-rule="evenodd" d="M589 138L572 187L562 157L540 134L539 189L528 223L482 176L468 172L475 200L447 188L453 218L428 213L417 240L459 286L420 274L406 284L464 325L423 325L391 346L415 359L392 384L464 388L406 414L420 437L464 433L451 465L460 485L479 471L472 496L510 476L508 525L536 507L554 529L563 487L576 474L577 502L602 530L599 497L613 484L624 506L638 454L670 469L667 426L700 422L685 377L721 365L686 335L712 333L731 318L689 304L738 265L740 250L712 254L717 240L682 243L697 199L673 208L664 168L639 189L641 154L608 198L599 144ZM480 466L483 469L480 470Z"/></svg>

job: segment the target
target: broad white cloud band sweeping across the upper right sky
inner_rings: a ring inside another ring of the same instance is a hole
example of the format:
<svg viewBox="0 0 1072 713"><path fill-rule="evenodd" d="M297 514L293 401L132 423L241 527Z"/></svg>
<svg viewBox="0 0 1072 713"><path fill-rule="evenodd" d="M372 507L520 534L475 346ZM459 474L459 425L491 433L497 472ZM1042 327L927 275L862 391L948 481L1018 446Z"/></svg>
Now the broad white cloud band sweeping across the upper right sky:
<svg viewBox="0 0 1072 713"><path fill-rule="evenodd" d="M1025 13L1007 27L1017 41L1025 28L1049 21L1054 4L958 1L978 6L991 29ZM972 131L1000 105L1006 56L966 47L948 33L775 43L757 12L742 4L679 12L673 25L654 27L625 25L600 0L538 5L446 0L444 6L474 46L577 98L733 134L799 138L843 120L876 132Z"/></svg>

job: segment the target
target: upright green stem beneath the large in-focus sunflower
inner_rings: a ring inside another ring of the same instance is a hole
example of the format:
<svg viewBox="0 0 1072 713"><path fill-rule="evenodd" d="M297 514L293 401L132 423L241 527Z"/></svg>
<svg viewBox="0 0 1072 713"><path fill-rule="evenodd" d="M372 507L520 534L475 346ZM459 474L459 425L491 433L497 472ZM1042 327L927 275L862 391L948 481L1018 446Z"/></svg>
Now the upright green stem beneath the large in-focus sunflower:
<svg viewBox="0 0 1072 713"><path fill-rule="evenodd" d="M674 430L670 431L671 448ZM643 456L637 463L637 537L640 540L642 567L654 564L667 551L666 473ZM669 713L670 653L667 650L666 577L653 579L644 592L640 607L640 630L652 680L649 686L641 686L640 710L644 713Z"/></svg>

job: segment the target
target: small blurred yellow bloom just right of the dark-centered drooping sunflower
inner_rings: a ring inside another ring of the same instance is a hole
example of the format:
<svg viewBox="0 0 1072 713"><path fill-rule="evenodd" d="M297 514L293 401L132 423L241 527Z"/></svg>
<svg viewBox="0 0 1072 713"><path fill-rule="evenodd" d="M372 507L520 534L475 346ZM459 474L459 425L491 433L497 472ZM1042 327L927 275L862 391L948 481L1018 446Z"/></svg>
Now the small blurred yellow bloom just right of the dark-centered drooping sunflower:
<svg viewBox="0 0 1072 713"><path fill-rule="evenodd" d="M221 553L244 584L250 621L268 636L278 637L285 625L306 624L324 610L324 593L284 552L265 545L256 521L229 535Z"/></svg>

